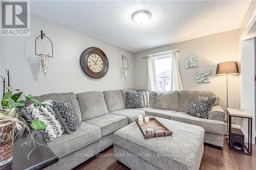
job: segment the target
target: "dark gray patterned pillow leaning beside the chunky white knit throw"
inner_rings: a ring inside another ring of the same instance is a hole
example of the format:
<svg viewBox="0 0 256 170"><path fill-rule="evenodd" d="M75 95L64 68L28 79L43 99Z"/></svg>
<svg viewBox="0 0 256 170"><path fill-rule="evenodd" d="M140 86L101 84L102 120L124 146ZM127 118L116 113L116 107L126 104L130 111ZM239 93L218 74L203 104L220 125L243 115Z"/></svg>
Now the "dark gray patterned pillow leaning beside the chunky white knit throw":
<svg viewBox="0 0 256 170"><path fill-rule="evenodd" d="M81 125L81 121L78 119L72 101L67 99L61 102L53 102L53 104L53 109L56 110L55 113L65 131L69 134L74 133Z"/></svg>

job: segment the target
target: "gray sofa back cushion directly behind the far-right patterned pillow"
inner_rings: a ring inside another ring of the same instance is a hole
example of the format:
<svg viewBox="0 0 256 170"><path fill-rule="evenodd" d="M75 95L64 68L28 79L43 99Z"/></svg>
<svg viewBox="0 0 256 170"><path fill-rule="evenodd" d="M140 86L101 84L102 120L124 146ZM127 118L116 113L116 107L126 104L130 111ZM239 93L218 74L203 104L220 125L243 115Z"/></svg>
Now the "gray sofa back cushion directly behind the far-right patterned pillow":
<svg viewBox="0 0 256 170"><path fill-rule="evenodd" d="M187 112L188 107L191 105L197 95L208 98L213 98L216 96L216 94L211 91L180 91L179 111Z"/></svg>

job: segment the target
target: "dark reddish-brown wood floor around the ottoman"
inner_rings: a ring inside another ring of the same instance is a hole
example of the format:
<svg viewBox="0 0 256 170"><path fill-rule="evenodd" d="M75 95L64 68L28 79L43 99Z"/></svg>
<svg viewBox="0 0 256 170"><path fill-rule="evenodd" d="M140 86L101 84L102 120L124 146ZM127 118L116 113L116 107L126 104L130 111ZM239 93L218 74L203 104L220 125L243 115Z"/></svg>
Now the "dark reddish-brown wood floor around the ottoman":
<svg viewBox="0 0 256 170"><path fill-rule="evenodd" d="M104 154L113 154L114 149L110 147L104 151ZM233 152L228 149L226 141L224 141L224 147L221 150L211 148L208 145L204 145L204 154L200 165L201 170L220 170L220 169L256 169L256 146L252 146L252 156ZM115 157L93 157L86 162L78 165L74 170L90 170L90 169L129 169L128 167L117 162Z"/></svg>

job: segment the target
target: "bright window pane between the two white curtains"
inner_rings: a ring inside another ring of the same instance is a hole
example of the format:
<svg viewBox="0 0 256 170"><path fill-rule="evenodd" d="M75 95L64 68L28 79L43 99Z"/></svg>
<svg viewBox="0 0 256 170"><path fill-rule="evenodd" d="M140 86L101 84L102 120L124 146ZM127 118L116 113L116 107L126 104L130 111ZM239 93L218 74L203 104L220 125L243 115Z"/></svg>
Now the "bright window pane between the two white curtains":
<svg viewBox="0 0 256 170"><path fill-rule="evenodd" d="M170 90L172 76L172 58L170 54L158 55L154 59L158 90Z"/></svg>

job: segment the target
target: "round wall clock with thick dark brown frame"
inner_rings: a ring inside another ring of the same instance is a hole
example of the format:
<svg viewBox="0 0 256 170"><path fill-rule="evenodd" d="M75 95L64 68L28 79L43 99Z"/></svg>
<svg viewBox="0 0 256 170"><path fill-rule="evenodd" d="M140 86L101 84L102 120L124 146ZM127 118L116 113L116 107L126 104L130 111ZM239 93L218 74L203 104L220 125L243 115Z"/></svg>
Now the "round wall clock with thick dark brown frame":
<svg viewBox="0 0 256 170"><path fill-rule="evenodd" d="M89 77L99 79L109 70L109 60L97 47L89 47L80 56L82 71Z"/></svg>

